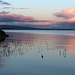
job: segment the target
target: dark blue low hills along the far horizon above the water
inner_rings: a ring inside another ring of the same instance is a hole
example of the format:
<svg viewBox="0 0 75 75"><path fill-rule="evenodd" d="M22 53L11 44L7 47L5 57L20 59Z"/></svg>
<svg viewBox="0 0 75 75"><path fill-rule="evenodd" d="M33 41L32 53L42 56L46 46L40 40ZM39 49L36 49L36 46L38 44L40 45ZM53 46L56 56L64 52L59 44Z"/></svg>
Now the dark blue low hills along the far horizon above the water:
<svg viewBox="0 0 75 75"><path fill-rule="evenodd" d="M14 25L0 25L2 30L75 30L71 28L38 28L38 27L23 27Z"/></svg>

